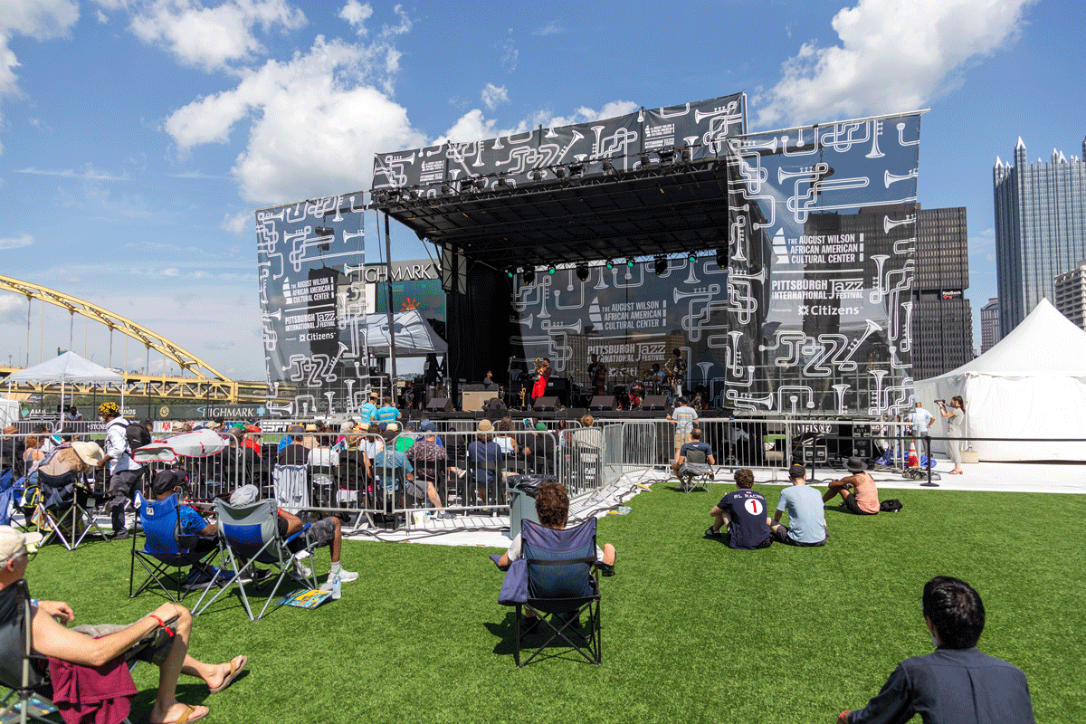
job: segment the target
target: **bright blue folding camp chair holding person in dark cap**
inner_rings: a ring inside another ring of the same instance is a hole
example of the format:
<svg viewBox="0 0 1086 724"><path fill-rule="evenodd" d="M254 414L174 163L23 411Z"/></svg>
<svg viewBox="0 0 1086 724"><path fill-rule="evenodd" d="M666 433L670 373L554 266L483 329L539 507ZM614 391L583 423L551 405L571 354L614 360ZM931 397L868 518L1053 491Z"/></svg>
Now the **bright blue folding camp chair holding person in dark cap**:
<svg viewBox="0 0 1086 724"><path fill-rule="evenodd" d="M180 515L177 507L176 493L165 500L148 500L138 491L136 492L136 509L139 511L139 525L143 533L143 548L137 550L136 538L138 535L134 535L132 559L128 576L128 598L138 596L153 581L159 584L169 600L178 604L188 593L185 589L187 577L181 574L182 569L189 568L193 573L209 571L211 561L215 559L218 546L207 551L197 551L199 536L181 533ZM134 590L137 560L147 571L148 576L139 588ZM176 569L176 573L172 573L171 569ZM209 577L210 575L209 571ZM176 598L166 587L167 582L177 588Z"/></svg>

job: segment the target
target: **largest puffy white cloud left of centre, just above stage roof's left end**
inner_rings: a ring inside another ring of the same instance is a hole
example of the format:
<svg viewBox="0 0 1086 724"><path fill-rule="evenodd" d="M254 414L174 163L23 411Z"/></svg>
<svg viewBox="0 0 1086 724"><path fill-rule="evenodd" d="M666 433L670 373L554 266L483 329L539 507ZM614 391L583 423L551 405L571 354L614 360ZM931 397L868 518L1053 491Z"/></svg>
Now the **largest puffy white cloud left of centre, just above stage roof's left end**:
<svg viewBox="0 0 1086 724"><path fill-rule="evenodd" d="M387 94L397 59L384 40L367 46L318 36L307 53L241 71L236 88L192 101L165 128L185 153L225 143L235 125L249 120L247 148L231 169L249 201L368 188L375 153L427 143Z"/></svg>

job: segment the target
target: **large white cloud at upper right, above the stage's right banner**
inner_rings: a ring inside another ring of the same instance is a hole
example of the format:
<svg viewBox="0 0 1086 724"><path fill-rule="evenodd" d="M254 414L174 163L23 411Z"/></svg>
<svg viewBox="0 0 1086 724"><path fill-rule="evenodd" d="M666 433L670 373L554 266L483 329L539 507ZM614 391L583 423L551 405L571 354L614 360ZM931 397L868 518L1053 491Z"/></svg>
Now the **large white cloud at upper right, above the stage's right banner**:
<svg viewBox="0 0 1086 724"><path fill-rule="evenodd" d="M815 123L911 111L960 85L977 59L1013 41L1032 0L859 0L834 15L839 45L805 43L754 99L758 123Z"/></svg>

